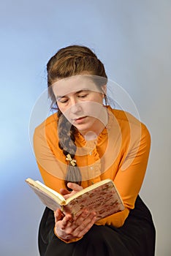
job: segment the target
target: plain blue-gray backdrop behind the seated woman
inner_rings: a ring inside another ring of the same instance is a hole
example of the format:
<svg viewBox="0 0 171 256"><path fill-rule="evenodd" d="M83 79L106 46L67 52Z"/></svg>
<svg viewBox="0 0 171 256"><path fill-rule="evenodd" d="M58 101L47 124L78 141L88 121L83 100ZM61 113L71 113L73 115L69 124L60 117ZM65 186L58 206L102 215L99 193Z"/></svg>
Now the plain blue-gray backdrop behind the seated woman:
<svg viewBox="0 0 171 256"><path fill-rule="evenodd" d="M151 132L141 189L156 225L156 255L170 249L170 0L6 0L0 3L0 255L38 256L43 206L26 186L39 179L28 136L46 88L45 64L69 44L93 48L137 105Z"/></svg>

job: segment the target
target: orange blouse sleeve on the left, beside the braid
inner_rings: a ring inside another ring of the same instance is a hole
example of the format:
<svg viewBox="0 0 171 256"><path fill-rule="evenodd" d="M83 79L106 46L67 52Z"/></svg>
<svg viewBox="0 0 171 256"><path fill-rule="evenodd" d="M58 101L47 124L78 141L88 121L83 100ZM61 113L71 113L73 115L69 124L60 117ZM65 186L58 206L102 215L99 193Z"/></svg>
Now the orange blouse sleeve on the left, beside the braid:
<svg viewBox="0 0 171 256"><path fill-rule="evenodd" d="M51 135L53 135L53 131ZM61 188L65 187L66 164L60 149L58 148L56 152L53 151L54 146L51 142L54 143L56 136L51 137L48 138L48 134L45 133L44 124L37 127L34 131L34 154L45 185L59 192ZM58 146L58 141L55 143Z"/></svg>

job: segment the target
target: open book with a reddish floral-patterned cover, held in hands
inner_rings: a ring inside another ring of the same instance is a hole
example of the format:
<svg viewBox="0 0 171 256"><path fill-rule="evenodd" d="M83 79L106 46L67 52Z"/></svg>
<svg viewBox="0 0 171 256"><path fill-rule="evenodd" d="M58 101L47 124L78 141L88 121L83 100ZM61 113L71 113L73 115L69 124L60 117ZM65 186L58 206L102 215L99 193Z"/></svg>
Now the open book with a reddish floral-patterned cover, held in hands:
<svg viewBox="0 0 171 256"><path fill-rule="evenodd" d="M83 209L96 211L97 220L115 214L118 211L123 211L124 209L121 196L110 179L105 179L90 187L86 187L86 189L77 192L66 200L61 194L45 186L40 181L27 178L26 182L45 206L53 211L61 208L64 214L72 214L73 219L80 215Z"/></svg>

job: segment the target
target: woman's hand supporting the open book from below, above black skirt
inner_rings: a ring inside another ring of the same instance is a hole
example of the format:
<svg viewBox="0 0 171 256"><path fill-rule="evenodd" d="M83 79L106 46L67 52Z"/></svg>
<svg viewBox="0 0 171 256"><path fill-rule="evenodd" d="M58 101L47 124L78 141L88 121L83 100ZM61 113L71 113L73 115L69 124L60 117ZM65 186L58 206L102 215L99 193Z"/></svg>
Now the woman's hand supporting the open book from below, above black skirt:
<svg viewBox="0 0 171 256"><path fill-rule="evenodd" d="M73 221L70 214L64 216L61 210L57 209L55 211L55 222L56 235L65 241L69 241L83 237L91 229L96 222L96 213L84 210Z"/></svg>

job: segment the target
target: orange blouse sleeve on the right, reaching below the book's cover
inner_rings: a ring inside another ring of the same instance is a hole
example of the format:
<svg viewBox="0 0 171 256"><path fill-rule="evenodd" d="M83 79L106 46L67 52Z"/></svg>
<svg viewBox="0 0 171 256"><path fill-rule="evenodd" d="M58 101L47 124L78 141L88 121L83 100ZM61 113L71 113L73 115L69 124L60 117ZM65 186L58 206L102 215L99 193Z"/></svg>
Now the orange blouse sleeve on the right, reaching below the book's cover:
<svg viewBox="0 0 171 256"><path fill-rule="evenodd" d="M135 200L140 192L148 164L150 147L151 136L145 125L141 124L140 140L132 143L132 146L129 147L129 151L125 153L125 156L121 160L121 165L114 178L115 186L126 208L122 212L99 220L99 222L96 222L97 225L107 224L115 227L121 227L123 225L126 217L129 215L129 210L134 208Z"/></svg>

